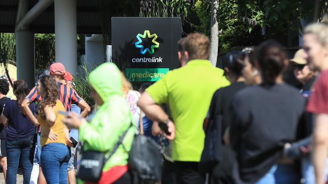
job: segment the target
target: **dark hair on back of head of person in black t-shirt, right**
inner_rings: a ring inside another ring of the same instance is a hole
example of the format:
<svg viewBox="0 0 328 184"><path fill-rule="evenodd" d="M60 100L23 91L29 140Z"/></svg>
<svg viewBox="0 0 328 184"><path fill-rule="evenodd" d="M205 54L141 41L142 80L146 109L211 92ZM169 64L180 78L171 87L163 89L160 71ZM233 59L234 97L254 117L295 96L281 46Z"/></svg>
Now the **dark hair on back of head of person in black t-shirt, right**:
<svg viewBox="0 0 328 184"><path fill-rule="evenodd" d="M275 40L268 40L258 47L257 53L263 83L274 85L277 77L285 69L287 54L284 47Z"/></svg>

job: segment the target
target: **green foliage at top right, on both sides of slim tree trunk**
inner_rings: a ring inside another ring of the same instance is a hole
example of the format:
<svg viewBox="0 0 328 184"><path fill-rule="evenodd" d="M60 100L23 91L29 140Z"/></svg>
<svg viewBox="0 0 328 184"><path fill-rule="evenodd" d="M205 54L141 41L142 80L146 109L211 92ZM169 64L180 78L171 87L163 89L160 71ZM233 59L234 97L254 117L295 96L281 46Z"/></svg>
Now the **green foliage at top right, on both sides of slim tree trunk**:
<svg viewBox="0 0 328 184"><path fill-rule="evenodd" d="M218 29L219 50L227 52L233 46L257 45L266 38L283 38L287 24L298 29L297 18L312 13L313 5L299 0L219 0ZM210 35L211 1L197 0L194 10L200 25L198 32Z"/></svg>

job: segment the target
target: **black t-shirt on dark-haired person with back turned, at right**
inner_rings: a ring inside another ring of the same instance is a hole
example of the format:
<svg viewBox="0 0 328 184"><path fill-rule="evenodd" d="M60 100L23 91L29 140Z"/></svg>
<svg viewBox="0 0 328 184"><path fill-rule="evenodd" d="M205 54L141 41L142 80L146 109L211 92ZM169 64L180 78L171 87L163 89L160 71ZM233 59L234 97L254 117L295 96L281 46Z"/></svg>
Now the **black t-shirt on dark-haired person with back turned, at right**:
<svg viewBox="0 0 328 184"><path fill-rule="evenodd" d="M278 161L285 143L306 123L305 100L286 84L241 90L233 101L230 141L237 154L233 178L254 183Z"/></svg>

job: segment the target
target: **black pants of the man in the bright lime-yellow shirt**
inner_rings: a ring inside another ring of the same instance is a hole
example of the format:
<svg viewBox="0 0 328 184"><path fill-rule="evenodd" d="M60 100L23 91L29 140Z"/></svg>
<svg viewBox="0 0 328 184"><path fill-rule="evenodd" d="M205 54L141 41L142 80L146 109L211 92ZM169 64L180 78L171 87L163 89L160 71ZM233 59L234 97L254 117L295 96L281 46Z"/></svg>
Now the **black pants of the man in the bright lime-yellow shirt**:
<svg viewBox="0 0 328 184"><path fill-rule="evenodd" d="M205 175L198 169L198 162L174 162L177 183L179 184L204 184ZM165 176L162 176L165 177Z"/></svg>

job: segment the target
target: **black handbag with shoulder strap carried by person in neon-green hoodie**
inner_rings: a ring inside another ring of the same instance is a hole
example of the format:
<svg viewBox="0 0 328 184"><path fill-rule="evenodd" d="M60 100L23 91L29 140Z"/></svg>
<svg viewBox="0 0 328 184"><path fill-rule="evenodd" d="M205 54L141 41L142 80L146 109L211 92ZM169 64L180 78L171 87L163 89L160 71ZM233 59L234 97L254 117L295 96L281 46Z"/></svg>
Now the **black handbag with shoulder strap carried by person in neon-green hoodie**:
<svg viewBox="0 0 328 184"><path fill-rule="evenodd" d="M82 179L83 181L97 182L101 177L103 165L113 156L115 151L122 144L122 141L127 132L130 130L131 126L132 124L126 131L123 132L119 141L116 143L107 158L105 158L104 152L95 150L84 151L82 153L82 159L80 161L80 167L77 173L77 177Z"/></svg>

